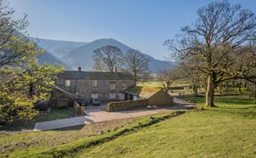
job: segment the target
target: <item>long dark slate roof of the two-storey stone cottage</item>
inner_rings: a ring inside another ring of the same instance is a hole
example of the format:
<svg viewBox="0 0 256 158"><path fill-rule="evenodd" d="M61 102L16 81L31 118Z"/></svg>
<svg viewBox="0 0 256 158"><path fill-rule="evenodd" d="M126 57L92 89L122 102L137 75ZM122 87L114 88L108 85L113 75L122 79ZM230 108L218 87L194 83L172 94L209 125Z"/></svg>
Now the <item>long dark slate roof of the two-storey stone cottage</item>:
<svg viewBox="0 0 256 158"><path fill-rule="evenodd" d="M88 80L133 80L130 73L121 72L92 72L92 71L64 71L58 75L60 79L88 79Z"/></svg>

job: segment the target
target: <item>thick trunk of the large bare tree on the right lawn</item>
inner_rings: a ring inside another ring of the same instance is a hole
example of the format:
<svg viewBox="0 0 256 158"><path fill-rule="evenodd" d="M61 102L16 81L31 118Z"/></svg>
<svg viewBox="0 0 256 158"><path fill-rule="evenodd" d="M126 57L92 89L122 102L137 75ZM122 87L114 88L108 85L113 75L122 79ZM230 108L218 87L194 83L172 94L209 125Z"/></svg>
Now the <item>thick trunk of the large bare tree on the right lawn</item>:
<svg viewBox="0 0 256 158"><path fill-rule="evenodd" d="M214 89L215 89L215 80L213 75L208 76L207 81L207 91L205 94L205 107L215 107L214 106Z"/></svg>

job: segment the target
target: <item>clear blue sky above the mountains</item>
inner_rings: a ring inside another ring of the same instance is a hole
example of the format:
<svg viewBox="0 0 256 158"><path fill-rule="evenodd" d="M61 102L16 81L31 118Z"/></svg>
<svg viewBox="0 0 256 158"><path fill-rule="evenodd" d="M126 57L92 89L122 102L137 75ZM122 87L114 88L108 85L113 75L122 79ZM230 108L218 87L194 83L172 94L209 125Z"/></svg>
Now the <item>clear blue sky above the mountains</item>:
<svg viewBox="0 0 256 158"><path fill-rule="evenodd" d="M212 0L10 0L15 17L28 14L28 33L41 38L92 42L116 40L156 59L169 51L164 40L196 20ZM256 12L255 0L230 0Z"/></svg>

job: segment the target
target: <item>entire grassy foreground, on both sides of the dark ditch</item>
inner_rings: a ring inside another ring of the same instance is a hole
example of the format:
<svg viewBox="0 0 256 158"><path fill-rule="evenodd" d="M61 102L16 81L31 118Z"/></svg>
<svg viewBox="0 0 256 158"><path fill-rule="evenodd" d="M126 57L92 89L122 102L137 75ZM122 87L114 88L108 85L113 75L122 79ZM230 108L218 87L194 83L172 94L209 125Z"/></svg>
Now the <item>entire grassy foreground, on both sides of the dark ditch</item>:
<svg viewBox="0 0 256 158"><path fill-rule="evenodd" d="M204 104L202 97L184 99ZM256 157L256 102L216 96L219 107L68 129L3 133L0 157ZM99 131L104 130L103 134Z"/></svg>

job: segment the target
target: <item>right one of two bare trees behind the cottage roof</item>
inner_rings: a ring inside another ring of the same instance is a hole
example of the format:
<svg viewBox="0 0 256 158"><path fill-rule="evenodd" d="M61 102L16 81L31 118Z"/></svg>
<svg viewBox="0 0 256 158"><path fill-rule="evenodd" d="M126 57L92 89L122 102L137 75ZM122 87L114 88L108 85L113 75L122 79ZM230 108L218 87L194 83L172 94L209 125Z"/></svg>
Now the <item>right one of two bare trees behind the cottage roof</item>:
<svg viewBox="0 0 256 158"><path fill-rule="evenodd" d="M128 71L132 73L136 81L140 79L140 75L148 73L148 59L140 51L132 49L127 51L124 60Z"/></svg>

